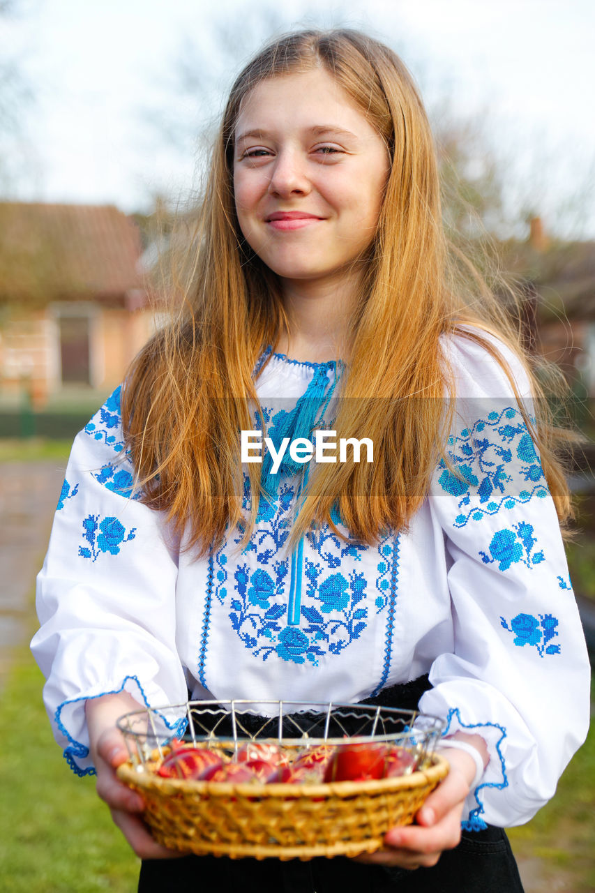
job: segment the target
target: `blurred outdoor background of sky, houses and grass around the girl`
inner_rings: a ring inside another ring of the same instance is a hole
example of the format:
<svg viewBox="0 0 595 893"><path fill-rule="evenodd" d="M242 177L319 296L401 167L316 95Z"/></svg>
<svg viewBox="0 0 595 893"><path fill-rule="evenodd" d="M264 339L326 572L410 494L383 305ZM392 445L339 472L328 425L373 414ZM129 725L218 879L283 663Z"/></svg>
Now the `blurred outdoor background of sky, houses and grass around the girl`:
<svg viewBox="0 0 595 893"><path fill-rule="evenodd" d="M490 246L524 296L527 342L571 386L584 440L568 557L595 647L595 4L0 0L0 723L16 736L0 784L17 785L0 810L6 889L135 889L136 859L46 730L26 649L33 581L68 444L154 330L147 278L168 221L200 194L230 84L298 26L362 28L401 54L431 116L448 230L472 253ZM595 889L594 789L591 736L553 803L512 832L528 891Z"/></svg>

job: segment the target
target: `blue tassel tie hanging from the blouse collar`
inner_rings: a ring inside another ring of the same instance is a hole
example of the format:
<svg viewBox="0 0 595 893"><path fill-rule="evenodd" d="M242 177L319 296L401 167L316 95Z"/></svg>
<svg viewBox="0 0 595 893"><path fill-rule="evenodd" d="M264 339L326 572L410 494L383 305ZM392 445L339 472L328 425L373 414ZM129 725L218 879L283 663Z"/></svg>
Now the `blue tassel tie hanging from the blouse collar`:
<svg viewBox="0 0 595 893"><path fill-rule="evenodd" d="M329 380L328 372L332 371L332 380ZM316 426L323 419L331 397L339 380L337 363L331 360L329 363L316 363L314 366L314 378L310 381L306 391L299 397L298 403L288 413L281 410L275 413L271 420L266 436L271 438L278 453L283 438L289 438L289 443L297 438L310 439ZM278 494L281 475L294 475L302 472L304 463L294 462L289 455L289 446L283 455L281 465L275 474L272 474L272 455L266 451L263 458L261 483L268 497L274 498Z"/></svg>

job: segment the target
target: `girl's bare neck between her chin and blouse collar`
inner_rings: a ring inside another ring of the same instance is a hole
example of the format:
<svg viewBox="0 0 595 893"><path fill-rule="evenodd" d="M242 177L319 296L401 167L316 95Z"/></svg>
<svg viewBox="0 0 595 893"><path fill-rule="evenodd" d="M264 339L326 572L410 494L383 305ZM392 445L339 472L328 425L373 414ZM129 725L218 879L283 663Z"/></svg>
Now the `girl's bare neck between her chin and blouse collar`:
<svg viewBox="0 0 595 893"><path fill-rule="evenodd" d="M289 331L283 330L275 350L294 360L322 363L346 360L350 343L349 323L356 305L356 289L344 281L282 283L283 305Z"/></svg>

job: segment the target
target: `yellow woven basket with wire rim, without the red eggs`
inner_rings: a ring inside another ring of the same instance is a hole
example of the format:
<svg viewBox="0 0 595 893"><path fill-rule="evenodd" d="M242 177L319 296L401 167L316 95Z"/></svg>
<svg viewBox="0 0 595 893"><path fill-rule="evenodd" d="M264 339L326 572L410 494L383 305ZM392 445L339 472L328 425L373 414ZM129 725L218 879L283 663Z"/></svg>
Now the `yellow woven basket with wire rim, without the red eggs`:
<svg viewBox="0 0 595 893"><path fill-rule="evenodd" d="M139 710L118 721L130 760L118 776L138 791L144 818L165 847L198 855L310 859L382 847L387 830L412 822L447 774L434 754L437 717L394 707L288 701L189 701ZM415 757L408 774L368 781L247 784L162 778L155 774L172 739L225 749L247 741L307 748L387 742Z"/></svg>

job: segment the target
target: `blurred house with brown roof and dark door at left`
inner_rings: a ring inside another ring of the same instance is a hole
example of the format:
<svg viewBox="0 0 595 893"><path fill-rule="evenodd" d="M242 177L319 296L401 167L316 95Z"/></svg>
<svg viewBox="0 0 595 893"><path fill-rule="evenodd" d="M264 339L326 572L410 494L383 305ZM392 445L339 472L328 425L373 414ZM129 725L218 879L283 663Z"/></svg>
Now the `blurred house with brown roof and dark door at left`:
<svg viewBox="0 0 595 893"><path fill-rule="evenodd" d="M152 329L136 222L113 205L0 203L0 394L115 387Z"/></svg>

